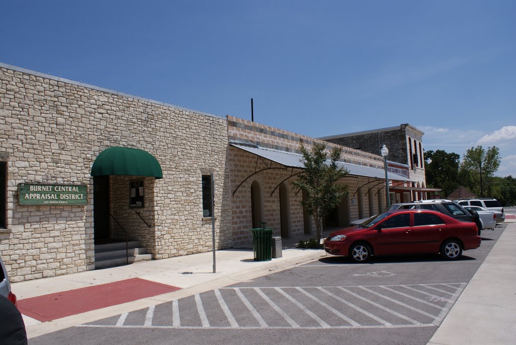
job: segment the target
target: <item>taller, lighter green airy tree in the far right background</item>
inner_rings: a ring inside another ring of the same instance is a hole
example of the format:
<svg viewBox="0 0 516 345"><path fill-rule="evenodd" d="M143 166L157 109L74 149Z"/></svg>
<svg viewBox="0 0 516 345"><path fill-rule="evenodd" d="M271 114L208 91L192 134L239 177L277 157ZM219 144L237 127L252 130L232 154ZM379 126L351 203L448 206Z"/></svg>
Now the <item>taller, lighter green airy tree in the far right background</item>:
<svg viewBox="0 0 516 345"><path fill-rule="evenodd" d="M498 147L483 149L481 145L471 147L464 154L461 169L469 170L476 188L474 191L480 196L488 194L488 185L501 162Z"/></svg>

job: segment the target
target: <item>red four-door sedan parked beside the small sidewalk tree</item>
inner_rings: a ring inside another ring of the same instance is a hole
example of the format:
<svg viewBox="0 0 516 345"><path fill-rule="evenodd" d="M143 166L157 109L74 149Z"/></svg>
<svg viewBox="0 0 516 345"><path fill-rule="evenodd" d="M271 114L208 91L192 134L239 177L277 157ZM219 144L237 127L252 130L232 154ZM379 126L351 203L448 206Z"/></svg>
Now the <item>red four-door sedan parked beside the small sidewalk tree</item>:
<svg viewBox="0 0 516 345"><path fill-rule="evenodd" d="M381 213L358 226L331 233L324 242L327 253L366 262L372 255L441 253L456 260L462 251L480 247L473 222L459 221L443 213L395 210Z"/></svg>

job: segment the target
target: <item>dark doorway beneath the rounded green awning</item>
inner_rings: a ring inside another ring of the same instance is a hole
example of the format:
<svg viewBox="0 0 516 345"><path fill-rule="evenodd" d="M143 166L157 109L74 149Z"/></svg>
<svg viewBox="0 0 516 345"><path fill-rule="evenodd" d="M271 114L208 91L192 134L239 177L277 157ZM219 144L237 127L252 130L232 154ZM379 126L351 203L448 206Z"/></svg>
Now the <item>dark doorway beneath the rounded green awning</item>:
<svg viewBox="0 0 516 345"><path fill-rule="evenodd" d="M109 176L93 177L93 228L95 243L109 240Z"/></svg>

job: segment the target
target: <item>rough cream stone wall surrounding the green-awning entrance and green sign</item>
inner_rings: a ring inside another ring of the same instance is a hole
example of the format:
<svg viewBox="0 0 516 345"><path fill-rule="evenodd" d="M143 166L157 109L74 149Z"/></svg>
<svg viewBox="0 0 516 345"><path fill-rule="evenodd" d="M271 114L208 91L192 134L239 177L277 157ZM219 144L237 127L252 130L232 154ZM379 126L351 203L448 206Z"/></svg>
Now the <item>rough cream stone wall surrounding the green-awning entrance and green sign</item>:
<svg viewBox="0 0 516 345"><path fill-rule="evenodd" d="M0 255L13 282L94 268L90 171L109 146L145 150L162 166L163 179L146 180L154 192L146 210L154 210L154 218L146 215L154 219L154 258L211 250L201 187L211 172L216 246L232 247L225 118L0 65L0 141L8 157ZM86 184L88 205L20 206L18 183Z"/></svg>

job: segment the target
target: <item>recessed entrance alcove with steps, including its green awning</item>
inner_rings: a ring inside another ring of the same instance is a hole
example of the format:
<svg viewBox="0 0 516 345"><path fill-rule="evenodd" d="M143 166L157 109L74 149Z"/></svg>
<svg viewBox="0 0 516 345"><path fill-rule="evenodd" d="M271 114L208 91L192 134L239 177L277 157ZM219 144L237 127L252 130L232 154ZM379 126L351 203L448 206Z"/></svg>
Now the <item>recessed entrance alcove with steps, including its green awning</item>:
<svg viewBox="0 0 516 345"><path fill-rule="evenodd" d="M157 250L155 179L163 178L157 159L132 147L108 147L95 158L90 174L95 268L150 259ZM130 254L144 251L150 253Z"/></svg>

